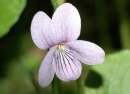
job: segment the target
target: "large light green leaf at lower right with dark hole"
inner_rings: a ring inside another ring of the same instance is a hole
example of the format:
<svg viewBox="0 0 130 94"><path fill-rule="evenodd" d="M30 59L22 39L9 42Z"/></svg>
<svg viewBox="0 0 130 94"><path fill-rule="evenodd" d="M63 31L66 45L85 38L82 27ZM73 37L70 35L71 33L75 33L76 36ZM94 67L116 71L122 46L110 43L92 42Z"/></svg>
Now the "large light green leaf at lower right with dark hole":
<svg viewBox="0 0 130 94"><path fill-rule="evenodd" d="M105 62L92 70L102 76L103 84L99 88L86 87L87 94L130 93L130 50L106 56Z"/></svg>

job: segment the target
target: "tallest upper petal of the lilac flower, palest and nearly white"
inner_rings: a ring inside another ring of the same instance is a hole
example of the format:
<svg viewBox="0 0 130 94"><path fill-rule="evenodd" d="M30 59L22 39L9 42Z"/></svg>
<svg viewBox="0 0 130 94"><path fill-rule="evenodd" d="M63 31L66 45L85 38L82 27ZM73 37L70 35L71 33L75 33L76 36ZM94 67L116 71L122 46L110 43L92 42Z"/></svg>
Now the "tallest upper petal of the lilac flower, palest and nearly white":
<svg viewBox="0 0 130 94"><path fill-rule="evenodd" d="M62 43L76 40L80 34L81 19L78 10L69 3L60 5L53 17L52 21L58 32L58 39Z"/></svg>

